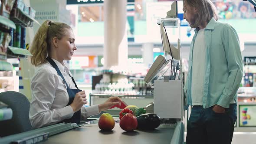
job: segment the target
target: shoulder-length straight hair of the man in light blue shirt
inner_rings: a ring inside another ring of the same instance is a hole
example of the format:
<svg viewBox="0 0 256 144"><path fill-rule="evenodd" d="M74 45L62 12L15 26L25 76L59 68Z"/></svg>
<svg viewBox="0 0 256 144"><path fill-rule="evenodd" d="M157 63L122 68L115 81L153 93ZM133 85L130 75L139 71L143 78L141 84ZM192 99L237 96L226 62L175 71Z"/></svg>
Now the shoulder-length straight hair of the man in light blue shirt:
<svg viewBox="0 0 256 144"><path fill-rule="evenodd" d="M183 0L183 7L185 10L187 10L186 5L197 9L195 23L190 25L192 28L197 28L200 25L205 26L205 22L209 23L212 17L214 17L215 20L218 20L216 7L210 0Z"/></svg>

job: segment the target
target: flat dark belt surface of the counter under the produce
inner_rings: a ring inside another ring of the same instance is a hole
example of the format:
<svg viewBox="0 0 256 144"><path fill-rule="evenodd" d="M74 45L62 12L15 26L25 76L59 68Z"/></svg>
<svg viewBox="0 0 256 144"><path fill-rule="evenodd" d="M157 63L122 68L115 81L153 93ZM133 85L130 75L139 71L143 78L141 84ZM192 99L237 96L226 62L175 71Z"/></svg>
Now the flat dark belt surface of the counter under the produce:
<svg viewBox="0 0 256 144"><path fill-rule="evenodd" d="M161 125L152 131L127 132L116 123L112 131L105 132L98 128L98 124L85 124L51 136L43 144L170 144L174 129Z"/></svg>

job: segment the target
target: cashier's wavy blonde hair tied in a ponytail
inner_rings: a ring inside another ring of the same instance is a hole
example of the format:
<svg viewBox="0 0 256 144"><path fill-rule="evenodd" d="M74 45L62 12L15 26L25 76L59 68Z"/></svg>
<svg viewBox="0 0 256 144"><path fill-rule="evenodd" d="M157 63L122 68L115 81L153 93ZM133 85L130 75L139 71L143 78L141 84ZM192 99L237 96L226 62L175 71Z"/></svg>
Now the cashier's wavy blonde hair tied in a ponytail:
<svg viewBox="0 0 256 144"><path fill-rule="evenodd" d="M46 62L46 57L50 52L51 41L54 37L62 39L66 35L66 29L72 29L65 23L54 23L46 20L36 32L33 42L30 46L30 57L32 65L41 65Z"/></svg>

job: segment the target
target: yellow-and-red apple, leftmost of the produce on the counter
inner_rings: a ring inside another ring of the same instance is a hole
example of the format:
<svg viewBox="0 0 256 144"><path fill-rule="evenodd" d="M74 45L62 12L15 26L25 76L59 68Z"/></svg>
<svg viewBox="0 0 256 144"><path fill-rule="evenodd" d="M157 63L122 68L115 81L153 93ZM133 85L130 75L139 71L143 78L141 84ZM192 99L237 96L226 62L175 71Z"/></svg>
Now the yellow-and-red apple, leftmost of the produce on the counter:
<svg viewBox="0 0 256 144"><path fill-rule="evenodd" d="M104 113L98 120L98 127L102 131L111 131L115 127L115 120L112 115Z"/></svg>

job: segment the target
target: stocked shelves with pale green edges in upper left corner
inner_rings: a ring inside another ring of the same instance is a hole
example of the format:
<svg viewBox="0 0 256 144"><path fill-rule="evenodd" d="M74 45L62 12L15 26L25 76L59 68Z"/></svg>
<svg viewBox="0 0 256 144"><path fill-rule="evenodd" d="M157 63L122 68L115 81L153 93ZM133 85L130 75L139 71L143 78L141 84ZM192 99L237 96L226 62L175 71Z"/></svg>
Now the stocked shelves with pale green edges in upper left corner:
<svg viewBox="0 0 256 144"><path fill-rule="evenodd" d="M32 56L26 50L26 29L33 27L36 11L23 0L2 1L0 10L0 71L12 71L9 58Z"/></svg>

